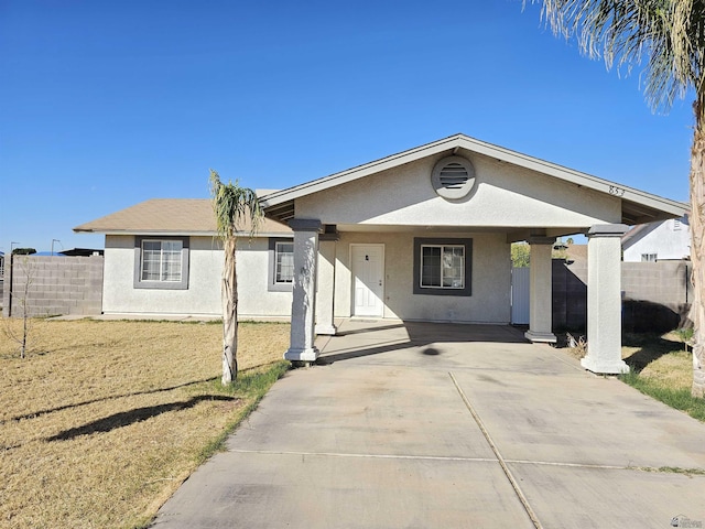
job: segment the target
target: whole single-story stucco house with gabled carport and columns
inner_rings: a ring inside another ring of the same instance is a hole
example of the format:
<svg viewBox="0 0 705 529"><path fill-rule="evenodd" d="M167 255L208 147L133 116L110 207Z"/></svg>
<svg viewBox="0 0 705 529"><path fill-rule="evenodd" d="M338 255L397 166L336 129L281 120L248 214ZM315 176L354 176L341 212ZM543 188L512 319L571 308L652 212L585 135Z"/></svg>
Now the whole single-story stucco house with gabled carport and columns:
<svg viewBox="0 0 705 529"><path fill-rule="evenodd" d="M510 245L531 246L527 337L555 342L551 250L588 237L588 356L620 357L621 236L686 205L452 136L261 196L268 224L243 237L243 317L291 316L285 357L313 361L335 319L508 324ZM104 311L219 313L221 250L207 201L149 201L84 224L106 234ZM247 231L247 227L245 227Z"/></svg>

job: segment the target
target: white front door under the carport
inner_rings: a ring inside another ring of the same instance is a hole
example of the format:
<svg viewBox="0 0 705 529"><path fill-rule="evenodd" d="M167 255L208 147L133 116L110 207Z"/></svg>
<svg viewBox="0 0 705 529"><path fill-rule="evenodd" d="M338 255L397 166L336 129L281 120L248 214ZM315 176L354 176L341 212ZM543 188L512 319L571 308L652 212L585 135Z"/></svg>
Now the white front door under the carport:
<svg viewBox="0 0 705 529"><path fill-rule="evenodd" d="M384 315L384 245L350 245L352 315Z"/></svg>

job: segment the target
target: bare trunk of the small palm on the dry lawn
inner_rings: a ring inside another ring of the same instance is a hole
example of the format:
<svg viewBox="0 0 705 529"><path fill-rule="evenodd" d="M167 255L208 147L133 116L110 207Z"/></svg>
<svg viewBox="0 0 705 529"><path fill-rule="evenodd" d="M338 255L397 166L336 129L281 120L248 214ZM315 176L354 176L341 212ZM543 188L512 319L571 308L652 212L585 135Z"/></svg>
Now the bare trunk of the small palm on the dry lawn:
<svg viewBox="0 0 705 529"><path fill-rule="evenodd" d="M236 238L227 237L223 244L225 266L223 267L223 385L231 384L238 377L238 285L235 270Z"/></svg>

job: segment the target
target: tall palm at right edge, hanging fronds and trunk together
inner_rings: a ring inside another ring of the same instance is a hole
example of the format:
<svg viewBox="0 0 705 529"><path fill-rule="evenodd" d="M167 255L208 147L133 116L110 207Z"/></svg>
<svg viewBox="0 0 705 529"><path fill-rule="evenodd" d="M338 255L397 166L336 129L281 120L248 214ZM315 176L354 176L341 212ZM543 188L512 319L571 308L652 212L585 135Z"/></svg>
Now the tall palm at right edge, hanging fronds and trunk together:
<svg viewBox="0 0 705 529"><path fill-rule="evenodd" d="M608 67L646 63L643 89L653 109L695 93L691 151L691 259L694 299L693 396L705 395L705 2L699 0L532 0L556 35Z"/></svg>

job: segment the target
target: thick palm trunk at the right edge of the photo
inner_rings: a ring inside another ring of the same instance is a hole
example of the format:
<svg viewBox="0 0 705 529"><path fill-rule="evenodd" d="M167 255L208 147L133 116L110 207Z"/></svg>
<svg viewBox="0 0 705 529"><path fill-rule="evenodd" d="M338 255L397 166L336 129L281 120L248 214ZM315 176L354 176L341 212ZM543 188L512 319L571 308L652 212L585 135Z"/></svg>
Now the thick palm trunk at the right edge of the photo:
<svg viewBox="0 0 705 529"><path fill-rule="evenodd" d="M701 90L702 91L702 90ZM705 395L705 370L703 361L705 352L705 99L698 96L693 105L695 111L695 132L691 158L691 259L693 261L693 396Z"/></svg>

